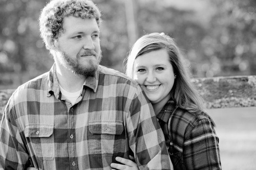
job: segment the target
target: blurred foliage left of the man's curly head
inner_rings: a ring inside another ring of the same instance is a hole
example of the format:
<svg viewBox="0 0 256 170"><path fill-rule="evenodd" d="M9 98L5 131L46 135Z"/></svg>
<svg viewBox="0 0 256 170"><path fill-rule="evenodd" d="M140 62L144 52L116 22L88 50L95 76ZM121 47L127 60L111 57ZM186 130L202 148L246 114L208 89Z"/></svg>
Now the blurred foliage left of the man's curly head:
<svg viewBox="0 0 256 170"><path fill-rule="evenodd" d="M52 63L39 37L37 20L42 6L44 2L40 0L0 2L1 72L15 72L19 83L23 82L23 75L27 75L22 73L30 71L28 78L32 78Z"/></svg>

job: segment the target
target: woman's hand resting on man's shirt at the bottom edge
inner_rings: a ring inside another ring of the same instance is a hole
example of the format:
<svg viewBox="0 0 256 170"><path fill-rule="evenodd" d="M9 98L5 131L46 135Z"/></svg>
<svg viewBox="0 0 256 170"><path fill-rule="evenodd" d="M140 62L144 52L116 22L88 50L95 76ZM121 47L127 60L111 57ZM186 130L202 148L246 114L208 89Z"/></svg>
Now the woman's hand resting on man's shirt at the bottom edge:
<svg viewBox="0 0 256 170"><path fill-rule="evenodd" d="M118 162L120 162L120 163L122 163L124 165L116 164L116 163L111 163L110 166L112 168L116 168L118 170L124 170L124 169L126 169L126 170L138 170L139 168L138 168L136 162L132 161L132 160L134 160L134 157L129 155L129 158L131 160L125 159L125 158L121 158L121 157L116 157L116 161L118 161Z"/></svg>

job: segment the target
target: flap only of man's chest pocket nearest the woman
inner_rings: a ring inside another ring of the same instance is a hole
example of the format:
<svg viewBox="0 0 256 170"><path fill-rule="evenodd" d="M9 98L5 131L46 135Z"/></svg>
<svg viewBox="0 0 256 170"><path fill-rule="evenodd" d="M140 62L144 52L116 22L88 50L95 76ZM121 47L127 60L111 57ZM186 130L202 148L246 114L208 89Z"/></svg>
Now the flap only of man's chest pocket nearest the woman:
<svg viewBox="0 0 256 170"><path fill-rule="evenodd" d="M90 133L121 135L123 130L122 121L89 121Z"/></svg>

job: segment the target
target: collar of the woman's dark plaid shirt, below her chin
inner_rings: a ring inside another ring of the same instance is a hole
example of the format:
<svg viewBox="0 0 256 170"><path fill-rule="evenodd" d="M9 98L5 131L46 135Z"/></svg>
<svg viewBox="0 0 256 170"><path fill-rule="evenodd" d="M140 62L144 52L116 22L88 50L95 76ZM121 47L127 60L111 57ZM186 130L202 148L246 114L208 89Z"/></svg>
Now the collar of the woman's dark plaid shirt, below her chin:
<svg viewBox="0 0 256 170"><path fill-rule="evenodd" d="M160 113L158 113L158 115L156 115L156 117L158 119L161 119L162 121L164 121L165 123L168 122L170 115L176 110L176 105L174 103L174 101L169 100L164 107L162 108L162 110L160 111Z"/></svg>

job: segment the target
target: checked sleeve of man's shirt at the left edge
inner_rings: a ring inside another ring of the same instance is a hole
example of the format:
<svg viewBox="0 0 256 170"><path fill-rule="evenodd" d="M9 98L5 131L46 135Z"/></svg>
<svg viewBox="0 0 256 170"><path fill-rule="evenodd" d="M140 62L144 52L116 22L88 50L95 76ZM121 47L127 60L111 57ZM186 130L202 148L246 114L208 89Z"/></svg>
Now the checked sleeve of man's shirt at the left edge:
<svg viewBox="0 0 256 170"><path fill-rule="evenodd" d="M29 164L29 155L16 125L14 109L10 107L11 98L0 125L0 169L17 170Z"/></svg>

